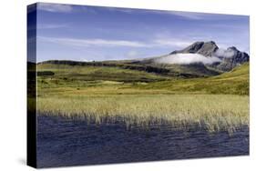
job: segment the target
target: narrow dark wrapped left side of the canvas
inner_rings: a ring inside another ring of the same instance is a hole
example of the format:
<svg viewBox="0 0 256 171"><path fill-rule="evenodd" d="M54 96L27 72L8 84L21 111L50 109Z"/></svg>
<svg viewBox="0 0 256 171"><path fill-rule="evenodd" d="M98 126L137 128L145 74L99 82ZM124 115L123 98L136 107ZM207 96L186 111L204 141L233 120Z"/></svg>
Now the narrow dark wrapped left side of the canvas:
<svg viewBox="0 0 256 171"><path fill-rule="evenodd" d="M36 4L26 6L26 165L36 165Z"/></svg>

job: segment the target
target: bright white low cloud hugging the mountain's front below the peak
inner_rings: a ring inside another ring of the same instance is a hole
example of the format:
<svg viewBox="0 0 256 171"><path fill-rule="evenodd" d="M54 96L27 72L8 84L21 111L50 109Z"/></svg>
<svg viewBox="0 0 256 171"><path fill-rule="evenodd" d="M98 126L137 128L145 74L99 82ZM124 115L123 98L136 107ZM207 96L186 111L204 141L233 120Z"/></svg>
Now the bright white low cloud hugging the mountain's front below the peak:
<svg viewBox="0 0 256 171"><path fill-rule="evenodd" d="M155 62L160 64L179 65L189 65L193 63L212 64L215 62L220 62L220 58L215 56L205 57L200 54L176 54L157 58L155 59Z"/></svg>

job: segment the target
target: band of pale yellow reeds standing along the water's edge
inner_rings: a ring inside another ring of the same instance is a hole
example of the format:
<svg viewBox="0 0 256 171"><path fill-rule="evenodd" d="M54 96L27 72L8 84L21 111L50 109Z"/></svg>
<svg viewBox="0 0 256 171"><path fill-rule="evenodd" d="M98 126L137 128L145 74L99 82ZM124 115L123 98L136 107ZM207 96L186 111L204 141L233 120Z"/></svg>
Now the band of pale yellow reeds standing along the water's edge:
<svg viewBox="0 0 256 171"><path fill-rule="evenodd" d="M235 131L249 125L248 96L124 95L38 98L39 114L116 121L130 126L200 126L210 132Z"/></svg>

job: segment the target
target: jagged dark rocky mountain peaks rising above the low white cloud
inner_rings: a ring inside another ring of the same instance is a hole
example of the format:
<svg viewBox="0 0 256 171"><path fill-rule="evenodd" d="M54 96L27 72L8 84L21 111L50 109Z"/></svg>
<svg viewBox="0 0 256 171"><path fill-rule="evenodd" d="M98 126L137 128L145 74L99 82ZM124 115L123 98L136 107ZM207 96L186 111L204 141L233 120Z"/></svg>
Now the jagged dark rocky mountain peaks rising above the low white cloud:
<svg viewBox="0 0 256 171"><path fill-rule="evenodd" d="M231 46L226 50L221 50L222 53L218 53L220 48L215 42L196 42L188 47L179 50L173 51L169 55L174 54L200 54L206 57L218 57L220 62L210 64L208 66L214 67L221 71L230 71L232 68L237 65L241 65L245 62L249 62L250 56L245 52L239 51L236 47Z"/></svg>

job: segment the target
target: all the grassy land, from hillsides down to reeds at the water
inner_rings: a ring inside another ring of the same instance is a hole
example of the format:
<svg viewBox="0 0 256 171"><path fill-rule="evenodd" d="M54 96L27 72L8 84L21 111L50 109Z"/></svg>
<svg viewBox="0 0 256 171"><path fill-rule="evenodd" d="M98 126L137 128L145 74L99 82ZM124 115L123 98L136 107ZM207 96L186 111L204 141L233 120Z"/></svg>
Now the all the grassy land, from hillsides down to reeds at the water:
<svg viewBox="0 0 256 171"><path fill-rule="evenodd" d="M127 126L249 126L249 64L182 78L115 65L37 65L38 114L122 121Z"/></svg>

